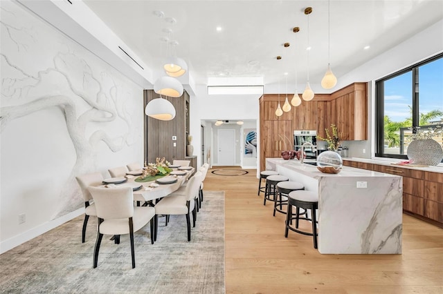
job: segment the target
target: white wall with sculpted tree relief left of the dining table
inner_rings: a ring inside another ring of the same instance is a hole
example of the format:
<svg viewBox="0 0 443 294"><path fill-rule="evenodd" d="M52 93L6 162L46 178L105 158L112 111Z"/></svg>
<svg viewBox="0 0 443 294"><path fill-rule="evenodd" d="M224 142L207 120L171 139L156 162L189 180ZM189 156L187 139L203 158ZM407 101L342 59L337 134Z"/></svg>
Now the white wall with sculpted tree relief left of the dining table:
<svg viewBox="0 0 443 294"><path fill-rule="evenodd" d="M0 57L3 253L83 213L76 175L143 162L143 89L16 2Z"/></svg>

